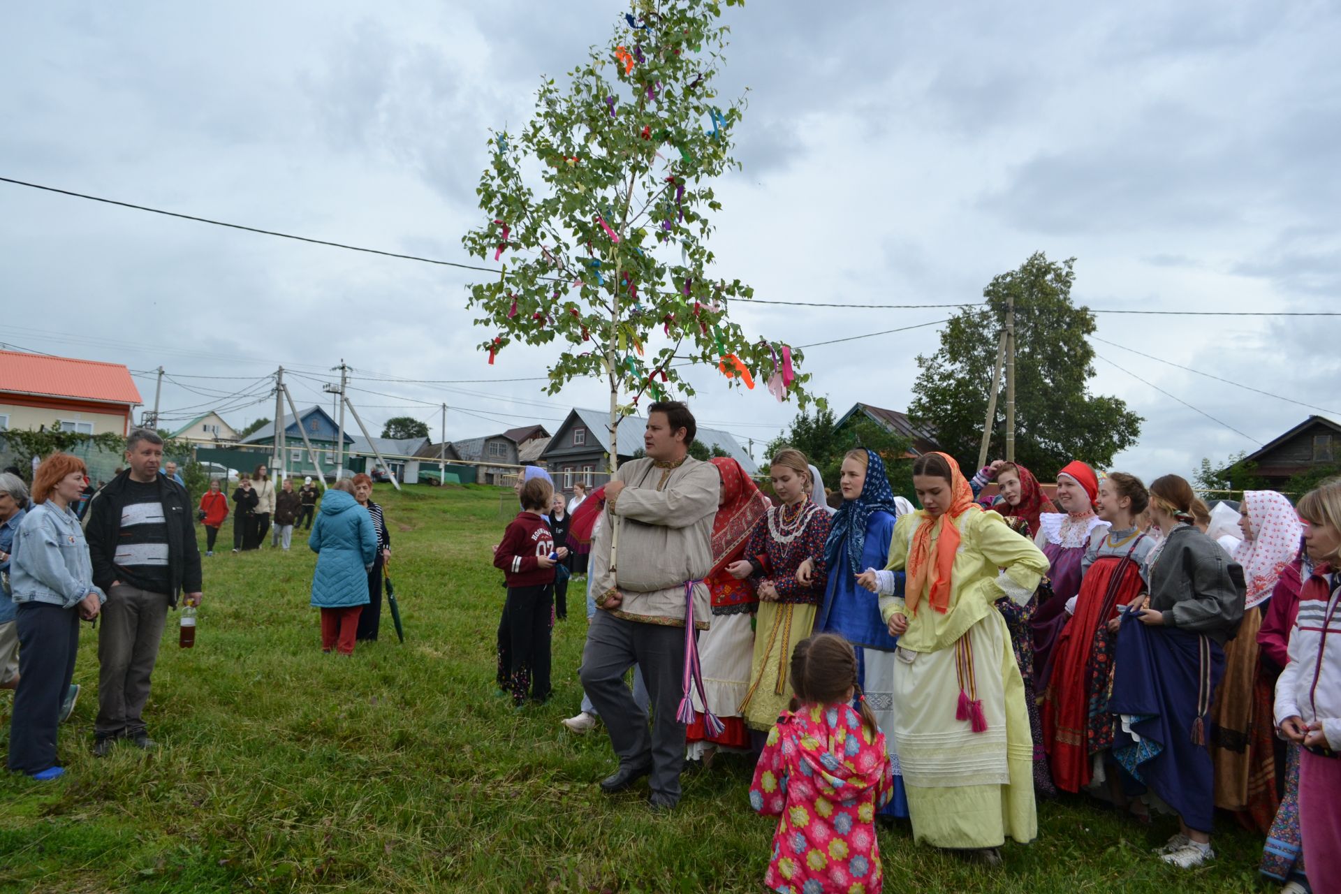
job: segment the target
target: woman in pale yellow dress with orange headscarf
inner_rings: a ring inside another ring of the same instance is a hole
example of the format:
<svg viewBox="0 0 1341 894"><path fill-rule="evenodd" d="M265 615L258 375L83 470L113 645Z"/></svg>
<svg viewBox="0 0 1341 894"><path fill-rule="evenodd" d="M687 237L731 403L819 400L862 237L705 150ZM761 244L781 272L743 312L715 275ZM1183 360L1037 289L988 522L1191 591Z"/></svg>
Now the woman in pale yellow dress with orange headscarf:
<svg viewBox="0 0 1341 894"><path fill-rule="evenodd" d="M955 460L913 462L923 508L894 525L877 588L898 637L894 739L913 839L996 865L1006 838L1038 834L1025 681L995 602L1027 602L1047 558L974 503ZM897 595L905 571L904 596Z"/></svg>

